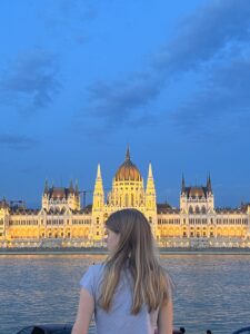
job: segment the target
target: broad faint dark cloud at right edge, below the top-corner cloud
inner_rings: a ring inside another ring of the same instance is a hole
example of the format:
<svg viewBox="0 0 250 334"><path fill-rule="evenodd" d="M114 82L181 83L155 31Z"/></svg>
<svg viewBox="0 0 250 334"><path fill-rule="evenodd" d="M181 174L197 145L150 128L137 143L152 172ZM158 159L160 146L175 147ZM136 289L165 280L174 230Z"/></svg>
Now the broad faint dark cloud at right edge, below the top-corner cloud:
<svg viewBox="0 0 250 334"><path fill-rule="evenodd" d="M202 90L173 114L176 124L208 132L234 131L250 125L250 60L238 58L213 68Z"/></svg>

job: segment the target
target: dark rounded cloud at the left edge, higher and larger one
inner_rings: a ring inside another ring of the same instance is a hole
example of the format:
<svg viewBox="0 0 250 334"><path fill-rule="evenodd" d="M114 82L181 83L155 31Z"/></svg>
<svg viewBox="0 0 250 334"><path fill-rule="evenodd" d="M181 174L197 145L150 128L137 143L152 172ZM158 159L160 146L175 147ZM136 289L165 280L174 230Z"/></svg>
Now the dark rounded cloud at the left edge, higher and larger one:
<svg viewBox="0 0 250 334"><path fill-rule="evenodd" d="M2 73L0 102L23 109L40 109L52 102L61 85L57 58L43 50L21 55Z"/></svg>

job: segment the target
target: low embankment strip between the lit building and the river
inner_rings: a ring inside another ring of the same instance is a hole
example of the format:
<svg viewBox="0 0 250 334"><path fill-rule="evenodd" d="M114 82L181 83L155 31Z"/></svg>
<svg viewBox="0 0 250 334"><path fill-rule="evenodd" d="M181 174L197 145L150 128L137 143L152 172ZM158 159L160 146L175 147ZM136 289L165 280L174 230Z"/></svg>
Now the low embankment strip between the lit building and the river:
<svg viewBox="0 0 250 334"><path fill-rule="evenodd" d="M160 255L250 255L250 248L159 248ZM6 255L107 255L106 248L0 248Z"/></svg>

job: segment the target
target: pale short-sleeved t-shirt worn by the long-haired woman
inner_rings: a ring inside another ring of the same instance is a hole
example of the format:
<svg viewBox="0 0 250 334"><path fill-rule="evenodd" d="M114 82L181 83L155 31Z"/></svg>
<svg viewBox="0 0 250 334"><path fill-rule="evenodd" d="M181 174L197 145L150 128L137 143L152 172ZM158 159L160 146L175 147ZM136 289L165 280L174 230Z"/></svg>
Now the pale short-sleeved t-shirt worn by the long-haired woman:
<svg viewBox="0 0 250 334"><path fill-rule="evenodd" d="M92 265L80 281L80 285L94 299L97 334L154 334L158 312L149 313L147 306L143 305L137 315L131 314L131 274L128 268L121 272L111 310L107 313L99 306L98 299L100 297L103 271L104 264Z"/></svg>

